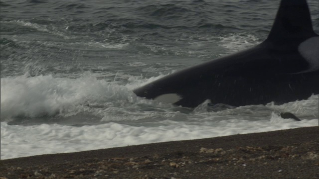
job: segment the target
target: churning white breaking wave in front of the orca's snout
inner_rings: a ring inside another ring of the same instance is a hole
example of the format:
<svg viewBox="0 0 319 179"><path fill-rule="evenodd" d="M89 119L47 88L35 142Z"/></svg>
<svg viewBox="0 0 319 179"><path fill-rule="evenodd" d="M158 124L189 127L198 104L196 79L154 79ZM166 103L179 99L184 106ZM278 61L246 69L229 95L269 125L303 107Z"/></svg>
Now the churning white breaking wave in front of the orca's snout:
<svg viewBox="0 0 319 179"><path fill-rule="evenodd" d="M78 79L51 75L8 77L1 79L0 118L3 121L18 116L67 114L84 102L107 103L109 98L130 100L134 96L126 87L97 80L90 73Z"/></svg>

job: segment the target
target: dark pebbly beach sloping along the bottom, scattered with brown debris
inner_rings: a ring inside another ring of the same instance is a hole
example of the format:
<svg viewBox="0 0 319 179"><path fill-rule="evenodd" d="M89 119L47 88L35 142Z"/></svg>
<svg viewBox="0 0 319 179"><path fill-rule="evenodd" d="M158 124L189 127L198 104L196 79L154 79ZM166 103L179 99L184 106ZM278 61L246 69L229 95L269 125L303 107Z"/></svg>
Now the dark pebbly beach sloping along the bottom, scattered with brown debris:
<svg viewBox="0 0 319 179"><path fill-rule="evenodd" d="M319 127L0 161L0 179L319 179Z"/></svg>

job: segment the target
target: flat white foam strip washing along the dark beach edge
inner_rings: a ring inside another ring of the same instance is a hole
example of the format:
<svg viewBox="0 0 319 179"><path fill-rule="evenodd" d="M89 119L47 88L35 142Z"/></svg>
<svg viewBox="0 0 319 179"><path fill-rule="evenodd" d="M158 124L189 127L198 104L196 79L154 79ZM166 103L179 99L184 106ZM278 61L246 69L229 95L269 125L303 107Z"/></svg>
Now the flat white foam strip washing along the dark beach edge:
<svg viewBox="0 0 319 179"><path fill-rule="evenodd" d="M136 127L114 122L82 127L59 124L19 126L1 122L1 160L317 125L318 119L298 122L282 119L276 114L259 121L236 118L200 122L165 120L156 127Z"/></svg>

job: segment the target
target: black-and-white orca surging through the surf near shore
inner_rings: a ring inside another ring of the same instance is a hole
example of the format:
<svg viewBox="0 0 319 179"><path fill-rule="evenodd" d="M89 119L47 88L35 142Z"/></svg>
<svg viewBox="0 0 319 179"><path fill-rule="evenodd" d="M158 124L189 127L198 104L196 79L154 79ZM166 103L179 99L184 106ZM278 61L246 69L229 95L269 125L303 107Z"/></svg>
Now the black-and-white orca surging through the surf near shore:
<svg viewBox="0 0 319 179"><path fill-rule="evenodd" d="M138 96L196 107L286 103L319 94L319 35L306 0L281 0L268 38L250 49L167 75Z"/></svg>

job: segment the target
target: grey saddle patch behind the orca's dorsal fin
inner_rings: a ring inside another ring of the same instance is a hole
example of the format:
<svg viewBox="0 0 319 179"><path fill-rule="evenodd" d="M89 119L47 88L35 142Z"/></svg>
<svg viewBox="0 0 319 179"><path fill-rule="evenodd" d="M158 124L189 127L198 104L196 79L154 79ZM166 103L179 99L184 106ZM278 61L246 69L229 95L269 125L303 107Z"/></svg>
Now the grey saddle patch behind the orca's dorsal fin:
<svg viewBox="0 0 319 179"><path fill-rule="evenodd" d="M302 42L298 51L311 66L307 72L319 70L319 37L312 37Z"/></svg>

